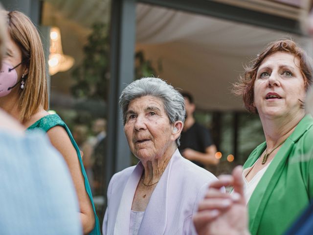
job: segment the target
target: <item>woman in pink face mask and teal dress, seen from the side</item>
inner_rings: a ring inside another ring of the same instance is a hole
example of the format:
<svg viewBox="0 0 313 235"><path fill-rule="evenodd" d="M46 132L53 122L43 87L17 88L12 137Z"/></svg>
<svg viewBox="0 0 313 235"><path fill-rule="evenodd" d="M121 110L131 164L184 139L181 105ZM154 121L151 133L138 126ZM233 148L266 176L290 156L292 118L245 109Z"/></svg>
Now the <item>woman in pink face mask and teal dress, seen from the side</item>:
<svg viewBox="0 0 313 235"><path fill-rule="evenodd" d="M46 112L45 57L37 29L21 12L2 11L2 15L7 19L8 40L0 74L0 108L20 120L28 131L39 128L47 132L72 176L83 232L98 235L99 222L78 146L63 120Z"/></svg>

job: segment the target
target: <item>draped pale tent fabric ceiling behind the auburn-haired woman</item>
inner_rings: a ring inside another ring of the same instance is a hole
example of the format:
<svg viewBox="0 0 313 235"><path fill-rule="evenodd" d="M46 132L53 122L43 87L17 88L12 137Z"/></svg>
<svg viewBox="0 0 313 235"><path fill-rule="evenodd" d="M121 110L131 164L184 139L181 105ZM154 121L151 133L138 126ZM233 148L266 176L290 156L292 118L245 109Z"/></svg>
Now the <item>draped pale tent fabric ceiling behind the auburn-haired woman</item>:
<svg viewBox="0 0 313 235"><path fill-rule="evenodd" d="M160 78L195 96L201 110L243 110L231 84L269 42L292 38L302 46L310 39L286 32L239 24L139 3L136 7L136 50L161 61Z"/></svg>

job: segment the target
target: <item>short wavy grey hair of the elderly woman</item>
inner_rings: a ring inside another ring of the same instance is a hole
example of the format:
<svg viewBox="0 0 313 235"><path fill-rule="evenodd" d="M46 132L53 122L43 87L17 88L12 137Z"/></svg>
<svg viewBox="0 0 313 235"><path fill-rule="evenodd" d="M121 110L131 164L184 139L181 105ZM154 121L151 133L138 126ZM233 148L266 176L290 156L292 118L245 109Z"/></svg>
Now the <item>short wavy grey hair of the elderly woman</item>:
<svg viewBox="0 0 313 235"><path fill-rule="evenodd" d="M167 84L160 78L146 77L136 80L129 84L119 97L119 106L123 112L123 123L126 123L126 112L128 110L129 103L141 96L151 95L155 96L163 101L164 110L170 119L170 123L175 121L185 121L185 106L184 98L182 95L174 89L173 86ZM179 138L176 143L179 146Z"/></svg>

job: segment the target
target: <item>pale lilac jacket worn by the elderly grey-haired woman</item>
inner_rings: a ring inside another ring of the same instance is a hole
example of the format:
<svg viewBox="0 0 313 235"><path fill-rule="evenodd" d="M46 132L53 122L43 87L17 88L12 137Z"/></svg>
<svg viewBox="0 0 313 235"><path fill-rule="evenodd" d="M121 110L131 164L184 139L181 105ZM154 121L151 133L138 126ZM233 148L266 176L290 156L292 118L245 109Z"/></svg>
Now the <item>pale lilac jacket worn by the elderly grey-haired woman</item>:
<svg viewBox="0 0 313 235"><path fill-rule="evenodd" d="M142 171L139 162L113 175L103 220L104 235L129 234L134 193ZM192 215L214 180L213 174L184 159L176 150L151 195L138 235L196 234Z"/></svg>

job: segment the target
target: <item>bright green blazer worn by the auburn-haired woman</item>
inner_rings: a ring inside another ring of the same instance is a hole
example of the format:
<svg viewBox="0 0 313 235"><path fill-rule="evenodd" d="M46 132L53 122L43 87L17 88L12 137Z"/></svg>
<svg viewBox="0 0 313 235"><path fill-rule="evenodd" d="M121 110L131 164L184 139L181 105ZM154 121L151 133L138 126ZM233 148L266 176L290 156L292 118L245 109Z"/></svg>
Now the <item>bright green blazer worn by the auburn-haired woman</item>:
<svg viewBox="0 0 313 235"><path fill-rule="evenodd" d="M266 148L250 154L250 167ZM252 235L281 235L313 198L313 118L306 115L285 141L255 188L248 203Z"/></svg>

